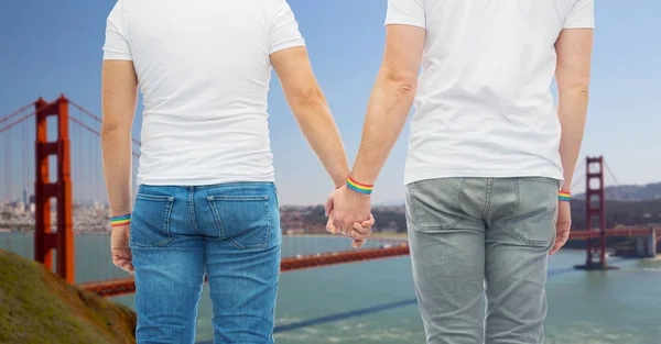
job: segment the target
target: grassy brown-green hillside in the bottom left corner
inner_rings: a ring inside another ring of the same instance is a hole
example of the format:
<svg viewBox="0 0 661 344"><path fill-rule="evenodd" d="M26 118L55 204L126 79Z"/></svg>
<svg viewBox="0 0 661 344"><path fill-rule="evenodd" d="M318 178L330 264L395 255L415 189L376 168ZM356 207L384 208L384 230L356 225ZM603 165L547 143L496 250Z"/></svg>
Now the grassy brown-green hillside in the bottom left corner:
<svg viewBox="0 0 661 344"><path fill-rule="evenodd" d="M0 343L136 343L136 313L0 249Z"/></svg>

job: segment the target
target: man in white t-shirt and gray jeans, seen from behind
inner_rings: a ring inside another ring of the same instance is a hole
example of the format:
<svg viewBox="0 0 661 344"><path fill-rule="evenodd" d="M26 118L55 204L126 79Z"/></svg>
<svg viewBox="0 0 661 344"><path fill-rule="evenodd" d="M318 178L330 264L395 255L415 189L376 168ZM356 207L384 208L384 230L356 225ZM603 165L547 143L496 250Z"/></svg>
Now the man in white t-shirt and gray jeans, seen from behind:
<svg viewBox="0 0 661 344"><path fill-rule="evenodd" d="M404 185L427 342L542 343L548 256L570 234L593 0L389 0L386 25L362 142L327 203L328 228L344 233L369 214L414 101Z"/></svg>

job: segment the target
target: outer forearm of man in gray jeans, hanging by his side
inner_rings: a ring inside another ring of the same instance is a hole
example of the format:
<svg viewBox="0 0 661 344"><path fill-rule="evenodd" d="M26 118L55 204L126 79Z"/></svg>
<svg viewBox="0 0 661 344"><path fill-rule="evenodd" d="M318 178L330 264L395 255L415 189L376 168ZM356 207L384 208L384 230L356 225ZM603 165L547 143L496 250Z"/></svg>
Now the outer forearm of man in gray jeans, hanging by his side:
<svg viewBox="0 0 661 344"><path fill-rule="evenodd" d="M557 116L562 126L560 157L565 179L562 189L570 191L583 143L588 90L585 87L560 91L559 93Z"/></svg>

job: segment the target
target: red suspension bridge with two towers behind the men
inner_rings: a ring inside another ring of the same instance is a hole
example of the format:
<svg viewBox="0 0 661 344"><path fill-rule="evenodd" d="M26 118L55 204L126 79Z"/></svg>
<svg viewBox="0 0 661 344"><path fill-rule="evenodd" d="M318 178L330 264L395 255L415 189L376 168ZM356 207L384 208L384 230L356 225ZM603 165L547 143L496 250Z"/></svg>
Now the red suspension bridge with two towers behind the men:
<svg viewBox="0 0 661 344"><path fill-rule="evenodd" d="M34 259L46 268L54 269L71 284L78 284L89 291L111 297L134 292L133 279L129 275L116 278L117 271L110 274L113 277L106 280L82 281L75 276L75 262L80 259L75 259L74 230L84 232L95 228L105 233L109 230L108 213L98 204L98 200L106 199L100 165L100 116L64 96L52 102L40 98L0 118L0 162L3 165L0 173L3 174L1 179L4 181L4 198L11 199L18 195L20 191L17 188L22 186L23 207L26 203L34 204ZM133 138L132 142L136 166L140 157L140 141ZM608 237L632 238L633 245L628 248L632 255L639 257L652 257L658 247L661 247L661 228L606 229L605 167L608 169L603 157L587 157L585 177L577 180L578 184L585 181L586 200L585 226L583 230L573 229L570 236L570 240L586 242L586 260L585 264L577 265L577 268L609 268ZM617 179L615 180L617 182ZM33 192L29 192L29 188ZM28 201L29 193L33 195L33 202ZM0 199L1 197L2 193ZM85 202L90 209L87 214L74 217L75 204ZM32 212L32 209L28 212ZM31 223L14 225L32 226ZM0 230L1 226L2 218ZM296 249L292 249L294 254L283 254L281 271L409 254L404 238L377 237L371 242L371 245L360 249L316 252L307 255L295 254ZM104 262L104 266L113 269L109 264L109 247L102 248L100 243L100 240L96 242L96 259L99 260L97 264ZM105 252L107 254L104 254ZM85 260L88 258L83 257Z"/></svg>

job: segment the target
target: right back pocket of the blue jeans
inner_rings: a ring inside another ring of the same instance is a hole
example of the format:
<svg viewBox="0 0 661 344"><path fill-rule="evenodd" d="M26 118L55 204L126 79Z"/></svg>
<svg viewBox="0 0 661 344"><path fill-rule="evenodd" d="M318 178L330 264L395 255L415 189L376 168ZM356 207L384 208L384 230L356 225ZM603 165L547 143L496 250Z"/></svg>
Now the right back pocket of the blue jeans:
<svg viewBox="0 0 661 344"><path fill-rule="evenodd" d="M239 249L266 248L271 240L268 196L207 197L221 240Z"/></svg>

